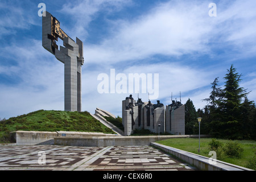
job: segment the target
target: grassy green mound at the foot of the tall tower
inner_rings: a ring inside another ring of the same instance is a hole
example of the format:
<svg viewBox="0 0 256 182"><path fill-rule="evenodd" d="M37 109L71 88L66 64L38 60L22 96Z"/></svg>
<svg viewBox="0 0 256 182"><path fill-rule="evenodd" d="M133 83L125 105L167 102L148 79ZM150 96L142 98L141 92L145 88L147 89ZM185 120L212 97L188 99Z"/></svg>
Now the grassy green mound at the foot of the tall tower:
<svg viewBox="0 0 256 182"><path fill-rule="evenodd" d="M93 118L88 111L38 110L0 121L0 142L9 140L11 131L114 132Z"/></svg>

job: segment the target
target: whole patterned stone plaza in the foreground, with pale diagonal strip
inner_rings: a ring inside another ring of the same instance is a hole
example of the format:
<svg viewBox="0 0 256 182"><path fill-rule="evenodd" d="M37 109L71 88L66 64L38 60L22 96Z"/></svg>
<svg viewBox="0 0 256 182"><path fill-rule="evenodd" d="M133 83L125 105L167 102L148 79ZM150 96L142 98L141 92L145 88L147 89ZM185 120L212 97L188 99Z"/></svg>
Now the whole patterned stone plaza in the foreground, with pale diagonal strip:
<svg viewBox="0 0 256 182"><path fill-rule="evenodd" d="M151 146L0 146L0 170L197 170Z"/></svg>

